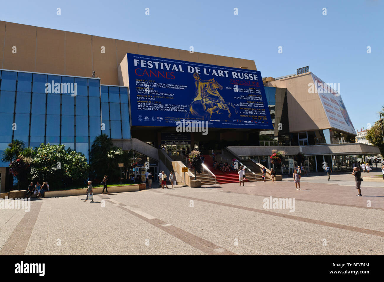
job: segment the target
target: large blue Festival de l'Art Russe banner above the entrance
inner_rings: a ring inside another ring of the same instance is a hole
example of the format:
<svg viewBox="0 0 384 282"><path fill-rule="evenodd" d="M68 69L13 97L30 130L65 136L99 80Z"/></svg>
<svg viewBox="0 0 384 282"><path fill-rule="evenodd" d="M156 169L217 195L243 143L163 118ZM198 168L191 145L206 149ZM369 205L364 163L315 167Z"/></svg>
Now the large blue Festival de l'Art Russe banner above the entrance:
<svg viewBox="0 0 384 282"><path fill-rule="evenodd" d="M132 125L273 129L261 73L127 53Z"/></svg>

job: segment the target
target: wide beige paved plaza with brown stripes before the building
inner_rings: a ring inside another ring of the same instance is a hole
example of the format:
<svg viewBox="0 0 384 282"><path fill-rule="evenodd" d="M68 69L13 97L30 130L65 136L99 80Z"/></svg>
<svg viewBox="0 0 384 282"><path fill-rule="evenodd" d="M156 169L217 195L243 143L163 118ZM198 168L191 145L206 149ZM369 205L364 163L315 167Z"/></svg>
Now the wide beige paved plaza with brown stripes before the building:
<svg viewBox="0 0 384 282"><path fill-rule="evenodd" d="M311 174L301 191L283 179L34 199L0 210L0 255L383 255L383 184L356 197L350 174Z"/></svg>

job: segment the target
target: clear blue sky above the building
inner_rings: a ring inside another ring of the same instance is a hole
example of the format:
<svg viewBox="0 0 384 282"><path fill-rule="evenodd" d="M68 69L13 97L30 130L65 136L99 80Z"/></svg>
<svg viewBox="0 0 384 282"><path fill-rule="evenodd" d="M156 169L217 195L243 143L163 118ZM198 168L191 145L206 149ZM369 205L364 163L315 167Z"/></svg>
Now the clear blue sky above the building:
<svg viewBox="0 0 384 282"><path fill-rule="evenodd" d="M373 124L384 105L383 13L381 0L16 0L2 2L0 19L185 50L194 46L195 52L254 60L263 77L309 65L324 82L340 83L360 129Z"/></svg>

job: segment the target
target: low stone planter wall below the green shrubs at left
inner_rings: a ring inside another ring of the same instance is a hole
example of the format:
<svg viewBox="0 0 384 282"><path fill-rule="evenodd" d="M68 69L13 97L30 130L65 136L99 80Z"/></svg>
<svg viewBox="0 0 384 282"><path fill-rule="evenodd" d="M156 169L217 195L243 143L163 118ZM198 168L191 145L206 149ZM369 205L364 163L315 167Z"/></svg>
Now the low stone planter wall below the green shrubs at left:
<svg viewBox="0 0 384 282"><path fill-rule="evenodd" d="M144 187L144 188L143 188ZM135 184L135 185L123 185L123 186L110 186L108 187L109 193L119 192L132 192L146 189L146 184ZM93 188L93 194L98 195L103 192L103 187ZM104 191L105 192L105 191ZM57 190L57 191L46 191L45 198L52 197L66 197L66 196L81 196L87 194L87 188L84 189L71 189L71 190Z"/></svg>

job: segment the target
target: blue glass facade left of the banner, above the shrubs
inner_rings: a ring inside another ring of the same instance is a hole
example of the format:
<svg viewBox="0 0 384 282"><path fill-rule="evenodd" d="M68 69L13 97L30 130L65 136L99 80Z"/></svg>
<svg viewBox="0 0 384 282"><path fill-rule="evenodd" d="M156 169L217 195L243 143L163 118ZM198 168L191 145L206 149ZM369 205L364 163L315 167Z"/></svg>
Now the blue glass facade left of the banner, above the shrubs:
<svg viewBox="0 0 384 282"><path fill-rule="evenodd" d="M88 158L101 123L111 138L131 138L127 89L99 78L0 70L0 152L19 139L31 147L65 144Z"/></svg>

